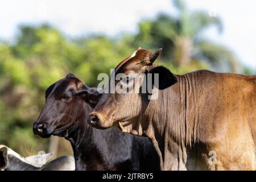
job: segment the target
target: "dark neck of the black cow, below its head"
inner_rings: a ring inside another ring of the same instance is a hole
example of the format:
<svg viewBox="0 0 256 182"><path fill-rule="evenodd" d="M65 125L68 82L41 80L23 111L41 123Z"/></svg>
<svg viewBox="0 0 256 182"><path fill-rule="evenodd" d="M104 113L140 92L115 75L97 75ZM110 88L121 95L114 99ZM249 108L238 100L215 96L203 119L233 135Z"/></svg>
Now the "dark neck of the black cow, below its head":
<svg viewBox="0 0 256 182"><path fill-rule="evenodd" d="M108 163L108 158L102 159L101 155L102 152L106 151L100 151L101 148L104 148L102 144L105 142L105 137L102 135L103 131L94 129L85 121L90 111L92 111L92 107L89 104L84 103L83 106L79 106L77 120L72 129L69 129L68 137L65 139L71 142L76 170L108 169L105 165Z"/></svg>

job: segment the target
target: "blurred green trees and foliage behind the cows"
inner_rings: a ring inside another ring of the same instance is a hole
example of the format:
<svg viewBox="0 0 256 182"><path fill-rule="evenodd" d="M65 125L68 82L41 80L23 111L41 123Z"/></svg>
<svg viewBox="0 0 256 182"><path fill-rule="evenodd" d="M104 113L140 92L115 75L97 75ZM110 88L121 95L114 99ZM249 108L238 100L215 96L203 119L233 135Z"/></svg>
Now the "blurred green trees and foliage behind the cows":
<svg viewBox="0 0 256 182"><path fill-rule="evenodd" d="M175 0L177 16L159 14L142 20L136 34L117 38L88 35L70 39L49 24L19 27L15 43L0 43L0 143L22 155L49 150L49 140L34 136L32 123L44 105L49 85L74 73L86 85L97 86L98 73L110 74L121 60L138 47L163 47L158 64L182 74L196 69L251 74L229 48L210 41L202 32L215 26L221 33L220 18L204 11L188 11ZM72 154L64 139L58 155Z"/></svg>

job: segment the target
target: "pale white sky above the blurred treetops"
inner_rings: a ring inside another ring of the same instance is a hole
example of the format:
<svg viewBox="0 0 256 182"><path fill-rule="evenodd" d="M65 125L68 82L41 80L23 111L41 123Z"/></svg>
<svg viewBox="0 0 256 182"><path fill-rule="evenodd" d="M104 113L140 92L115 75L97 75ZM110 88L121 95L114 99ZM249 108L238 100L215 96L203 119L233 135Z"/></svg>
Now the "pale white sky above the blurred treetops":
<svg viewBox="0 0 256 182"><path fill-rule="evenodd" d="M205 36L228 46L250 68L256 68L256 1L192 0L190 10L220 16L224 32L210 28ZM136 32L137 23L159 12L175 14L170 0L8 0L0 4L0 39L14 40L19 24L49 22L65 35Z"/></svg>

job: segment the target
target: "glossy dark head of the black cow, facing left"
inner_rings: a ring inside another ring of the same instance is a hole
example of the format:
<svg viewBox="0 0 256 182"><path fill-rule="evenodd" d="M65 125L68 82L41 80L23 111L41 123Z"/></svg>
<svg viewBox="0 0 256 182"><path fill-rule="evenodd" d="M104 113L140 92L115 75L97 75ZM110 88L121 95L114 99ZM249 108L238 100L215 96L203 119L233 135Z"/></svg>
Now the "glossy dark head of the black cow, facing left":
<svg viewBox="0 0 256 182"><path fill-rule="evenodd" d="M97 89L88 88L69 73L46 90L46 104L33 125L34 134L67 137L76 121L86 117L85 102L94 107L99 97Z"/></svg>

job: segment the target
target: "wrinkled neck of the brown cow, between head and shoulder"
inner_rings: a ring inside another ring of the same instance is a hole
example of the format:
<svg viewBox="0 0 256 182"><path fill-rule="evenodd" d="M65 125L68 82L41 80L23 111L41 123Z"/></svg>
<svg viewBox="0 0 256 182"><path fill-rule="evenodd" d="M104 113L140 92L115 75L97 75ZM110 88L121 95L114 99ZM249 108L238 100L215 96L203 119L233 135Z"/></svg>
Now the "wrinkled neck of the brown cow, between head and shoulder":
<svg viewBox="0 0 256 182"><path fill-rule="evenodd" d="M159 98L151 100L145 111L150 124L143 130L162 155L162 169L185 169L187 149L195 143L199 113L192 109L194 79L193 73L177 76L177 83L158 90Z"/></svg>

